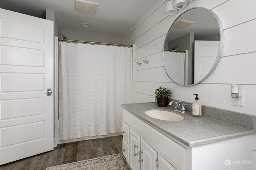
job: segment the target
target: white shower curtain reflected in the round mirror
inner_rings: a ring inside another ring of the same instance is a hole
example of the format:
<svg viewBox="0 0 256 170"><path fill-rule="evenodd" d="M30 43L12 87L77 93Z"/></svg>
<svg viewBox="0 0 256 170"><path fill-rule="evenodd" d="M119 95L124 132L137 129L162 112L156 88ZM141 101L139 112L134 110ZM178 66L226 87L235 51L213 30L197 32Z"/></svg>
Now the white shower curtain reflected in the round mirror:
<svg viewBox="0 0 256 170"><path fill-rule="evenodd" d="M185 54L164 51L164 66L169 77L177 84L184 85Z"/></svg>

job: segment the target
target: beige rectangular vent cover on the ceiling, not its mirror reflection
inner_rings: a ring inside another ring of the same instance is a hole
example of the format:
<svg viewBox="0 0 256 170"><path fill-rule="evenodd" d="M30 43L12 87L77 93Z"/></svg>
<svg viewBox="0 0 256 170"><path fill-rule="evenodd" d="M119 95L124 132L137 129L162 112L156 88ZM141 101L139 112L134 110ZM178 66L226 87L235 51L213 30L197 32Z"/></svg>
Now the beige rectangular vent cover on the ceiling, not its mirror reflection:
<svg viewBox="0 0 256 170"><path fill-rule="evenodd" d="M76 10L96 14L99 4L85 0L76 0Z"/></svg>

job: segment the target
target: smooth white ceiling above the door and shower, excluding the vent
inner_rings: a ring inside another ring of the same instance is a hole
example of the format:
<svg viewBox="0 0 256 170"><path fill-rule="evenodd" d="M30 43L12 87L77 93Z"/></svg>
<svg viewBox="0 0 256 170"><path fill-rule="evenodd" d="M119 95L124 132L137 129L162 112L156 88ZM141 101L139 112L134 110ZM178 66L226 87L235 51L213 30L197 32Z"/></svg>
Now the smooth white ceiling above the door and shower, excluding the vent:
<svg viewBox="0 0 256 170"><path fill-rule="evenodd" d="M54 10L61 29L123 35L157 0L88 0L99 4L97 14L75 9L74 0L1 0L7 10L42 16ZM81 23L90 24L84 28Z"/></svg>

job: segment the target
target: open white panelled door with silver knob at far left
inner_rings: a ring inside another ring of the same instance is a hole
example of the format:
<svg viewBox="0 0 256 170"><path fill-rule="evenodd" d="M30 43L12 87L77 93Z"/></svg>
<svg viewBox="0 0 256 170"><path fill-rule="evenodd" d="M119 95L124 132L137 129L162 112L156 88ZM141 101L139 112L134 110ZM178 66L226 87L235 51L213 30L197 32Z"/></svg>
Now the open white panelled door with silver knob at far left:
<svg viewBox="0 0 256 170"><path fill-rule="evenodd" d="M53 22L0 9L0 164L53 149Z"/></svg>

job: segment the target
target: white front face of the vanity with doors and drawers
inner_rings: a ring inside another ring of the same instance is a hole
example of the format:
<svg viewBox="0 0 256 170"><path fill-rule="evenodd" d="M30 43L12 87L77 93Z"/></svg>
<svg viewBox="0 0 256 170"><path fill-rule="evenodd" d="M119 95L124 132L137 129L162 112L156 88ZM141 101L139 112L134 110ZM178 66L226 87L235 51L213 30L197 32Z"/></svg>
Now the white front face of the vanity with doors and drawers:
<svg viewBox="0 0 256 170"><path fill-rule="evenodd" d="M132 170L185 168L185 147L176 144L126 110L123 110L123 119L123 154ZM130 137L126 135L128 133ZM126 140L128 138L130 143Z"/></svg>

